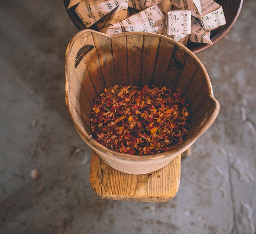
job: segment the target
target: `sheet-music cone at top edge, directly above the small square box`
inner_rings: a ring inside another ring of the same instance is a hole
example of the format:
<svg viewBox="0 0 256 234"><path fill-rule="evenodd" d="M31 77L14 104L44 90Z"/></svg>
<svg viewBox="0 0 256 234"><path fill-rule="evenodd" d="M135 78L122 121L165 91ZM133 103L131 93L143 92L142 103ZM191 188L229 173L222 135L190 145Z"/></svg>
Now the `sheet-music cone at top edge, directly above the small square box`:
<svg viewBox="0 0 256 234"><path fill-rule="evenodd" d="M191 11L193 16L202 19L200 0L171 0L171 4L179 9Z"/></svg>

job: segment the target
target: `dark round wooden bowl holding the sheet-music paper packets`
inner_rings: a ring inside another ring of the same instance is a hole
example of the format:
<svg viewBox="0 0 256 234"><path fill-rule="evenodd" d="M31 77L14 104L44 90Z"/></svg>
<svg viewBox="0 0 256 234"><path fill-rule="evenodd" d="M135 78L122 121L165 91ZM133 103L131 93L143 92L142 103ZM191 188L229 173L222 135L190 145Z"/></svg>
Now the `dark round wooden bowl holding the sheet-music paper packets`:
<svg viewBox="0 0 256 234"><path fill-rule="evenodd" d="M76 7L71 7L67 9L69 2L70 0L64 0L64 5L70 19L72 20L73 24L77 27L78 30L85 29L84 24L78 17L77 13L74 11ZM216 2L222 6L227 24L212 30L211 41L213 44L221 40L223 36L225 36L229 32L229 30L235 24L243 5L243 0L216 0ZM90 28L94 30L98 30L95 24L92 25L92 27ZM203 51L204 49L209 48L210 46L212 45L203 44L203 43L194 43L194 42L189 42L187 45L187 47L195 54L200 51Z"/></svg>

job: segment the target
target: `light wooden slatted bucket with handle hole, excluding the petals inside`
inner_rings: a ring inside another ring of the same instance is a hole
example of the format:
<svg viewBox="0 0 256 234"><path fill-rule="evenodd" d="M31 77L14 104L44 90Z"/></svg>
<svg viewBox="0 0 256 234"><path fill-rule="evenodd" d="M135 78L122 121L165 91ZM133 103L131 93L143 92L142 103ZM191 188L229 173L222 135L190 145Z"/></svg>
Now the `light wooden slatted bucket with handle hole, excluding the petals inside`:
<svg viewBox="0 0 256 234"><path fill-rule="evenodd" d="M216 119L219 103L199 59L185 46L152 33L112 37L93 30L77 33L67 46L66 104L81 138L108 165L129 174L146 174L188 149ZM91 107L104 88L114 85L164 85L185 94L192 120L186 139L172 151L137 156L111 151L90 135Z"/></svg>

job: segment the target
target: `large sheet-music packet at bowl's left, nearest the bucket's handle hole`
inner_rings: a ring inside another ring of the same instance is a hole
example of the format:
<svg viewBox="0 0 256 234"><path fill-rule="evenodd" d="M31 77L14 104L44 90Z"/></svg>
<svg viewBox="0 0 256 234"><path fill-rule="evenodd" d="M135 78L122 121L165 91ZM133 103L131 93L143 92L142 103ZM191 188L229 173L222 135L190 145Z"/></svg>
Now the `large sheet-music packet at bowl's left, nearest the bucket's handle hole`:
<svg viewBox="0 0 256 234"><path fill-rule="evenodd" d="M92 26L106 14L113 11L123 0L87 0L81 1L76 13L86 28Z"/></svg>

